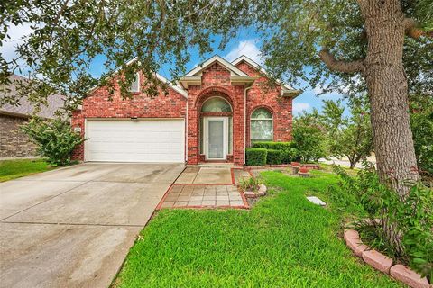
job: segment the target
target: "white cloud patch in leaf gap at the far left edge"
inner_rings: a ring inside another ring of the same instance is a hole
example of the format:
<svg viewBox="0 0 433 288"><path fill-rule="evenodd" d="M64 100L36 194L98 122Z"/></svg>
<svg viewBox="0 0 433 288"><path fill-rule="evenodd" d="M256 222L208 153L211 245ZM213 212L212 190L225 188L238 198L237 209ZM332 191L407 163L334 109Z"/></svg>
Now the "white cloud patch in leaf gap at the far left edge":
<svg viewBox="0 0 433 288"><path fill-rule="evenodd" d="M15 26L11 24L7 31L7 34L11 36L11 39L2 40L1 54L3 58L10 61L17 57L16 47L23 44L24 39L32 33L30 23L24 23L23 25Z"/></svg>

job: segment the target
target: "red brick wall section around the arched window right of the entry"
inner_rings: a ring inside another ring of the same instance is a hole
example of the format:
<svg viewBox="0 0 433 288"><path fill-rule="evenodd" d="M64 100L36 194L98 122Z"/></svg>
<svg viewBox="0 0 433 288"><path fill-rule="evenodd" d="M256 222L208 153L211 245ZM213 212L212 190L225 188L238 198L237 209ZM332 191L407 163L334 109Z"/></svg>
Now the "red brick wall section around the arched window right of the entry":
<svg viewBox="0 0 433 288"><path fill-rule="evenodd" d="M273 115L273 140L284 142L291 140L292 99L281 96L281 87L272 86L266 76L246 64L244 61L236 67L248 76L260 76L255 80L247 94L247 147L250 146L250 118L253 111L259 107L267 108Z"/></svg>

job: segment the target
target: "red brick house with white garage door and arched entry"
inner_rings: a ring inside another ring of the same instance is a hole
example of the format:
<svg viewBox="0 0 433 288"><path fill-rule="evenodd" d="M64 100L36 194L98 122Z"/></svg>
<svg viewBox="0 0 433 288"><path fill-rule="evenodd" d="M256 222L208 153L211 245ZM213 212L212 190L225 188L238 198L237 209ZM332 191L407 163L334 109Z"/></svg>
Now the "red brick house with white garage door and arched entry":
<svg viewBox="0 0 433 288"><path fill-rule="evenodd" d="M109 101L100 87L83 100L72 117L74 130L88 139L77 159L241 166L253 141L291 139L292 100L300 91L268 85L266 72L250 58L209 58L156 97L140 92L141 77L131 86L133 99L117 92Z"/></svg>

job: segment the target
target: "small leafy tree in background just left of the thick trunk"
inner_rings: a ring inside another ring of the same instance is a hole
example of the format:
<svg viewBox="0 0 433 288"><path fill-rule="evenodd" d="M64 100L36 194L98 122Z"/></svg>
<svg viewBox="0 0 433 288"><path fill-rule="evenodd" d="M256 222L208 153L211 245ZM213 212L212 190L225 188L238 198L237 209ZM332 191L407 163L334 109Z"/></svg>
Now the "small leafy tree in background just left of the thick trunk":
<svg viewBox="0 0 433 288"><path fill-rule="evenodd" d="M350 168L373 152L373 133L366 97L350 99L350 117L345 117L341 101L324 101L319 118L327 126L327 142L331 156L347 157Z"/></svg>

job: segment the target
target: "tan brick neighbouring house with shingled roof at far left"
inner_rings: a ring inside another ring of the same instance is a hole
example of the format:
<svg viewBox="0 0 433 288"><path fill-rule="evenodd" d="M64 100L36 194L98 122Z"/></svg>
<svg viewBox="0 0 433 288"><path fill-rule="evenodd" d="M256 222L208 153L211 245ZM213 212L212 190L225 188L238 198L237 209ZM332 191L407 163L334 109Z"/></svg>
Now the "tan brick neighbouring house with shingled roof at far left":
<svg viewBox="0 0 433 288"><path fill-rule="evenodd" d="M8 89L1 87L0 97L6 94L16 94L17 82L28 81L22 76L10 76L12 84ZM50 119L54 117L64 100L58 94L48 97L48 105L41 105L38 116ZM33 157L36 156L36 147L32 141L23 133L20 126L27 122L33 114L33 105L24 97L20 99L19 105L5 104L0 106L0 158Z"/></svg>

